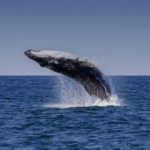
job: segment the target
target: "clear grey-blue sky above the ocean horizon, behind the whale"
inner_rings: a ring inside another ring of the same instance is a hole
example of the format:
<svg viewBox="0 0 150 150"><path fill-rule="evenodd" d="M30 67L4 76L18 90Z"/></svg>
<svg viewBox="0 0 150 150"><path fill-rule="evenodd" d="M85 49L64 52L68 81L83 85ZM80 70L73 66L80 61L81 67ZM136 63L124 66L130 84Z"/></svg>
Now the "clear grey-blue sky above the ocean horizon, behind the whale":
<svg viewBox="0 0 150 150"><path fill-rule="evenodd" d="M54 75L29 48L88 58L107 75L150 75L150 1L0 0L0 75Z"/></svg>

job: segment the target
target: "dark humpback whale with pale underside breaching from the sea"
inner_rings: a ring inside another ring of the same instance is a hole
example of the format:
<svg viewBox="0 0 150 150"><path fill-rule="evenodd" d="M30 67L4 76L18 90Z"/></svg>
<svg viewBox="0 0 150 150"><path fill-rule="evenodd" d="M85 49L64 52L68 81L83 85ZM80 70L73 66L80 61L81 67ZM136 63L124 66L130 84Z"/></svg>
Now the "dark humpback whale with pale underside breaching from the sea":
<svg viewBox="0 0 150 150"><path fill-rule="evenodd" d="M25 55L42 67L77 81L91 96L110 100L110 86L94 62L60 51L29 49L25 51Z"/></svg>

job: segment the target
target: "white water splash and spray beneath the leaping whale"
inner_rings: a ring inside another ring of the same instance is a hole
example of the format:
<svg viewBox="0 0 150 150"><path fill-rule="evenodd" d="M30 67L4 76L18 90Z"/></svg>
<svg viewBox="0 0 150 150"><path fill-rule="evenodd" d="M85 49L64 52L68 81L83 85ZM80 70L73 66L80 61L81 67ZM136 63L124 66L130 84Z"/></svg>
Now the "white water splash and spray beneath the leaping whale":
<svg viewBox="0 0 150 150"><path fill-rule="evenodd" d="M112 95L110 101L101 101L91 97L85 89L77 82L60 76L55 83L55 92L58 102L43 105L44 108L69 108L69 107L90 107L90 106L120 106L117 95Z"/></svg>

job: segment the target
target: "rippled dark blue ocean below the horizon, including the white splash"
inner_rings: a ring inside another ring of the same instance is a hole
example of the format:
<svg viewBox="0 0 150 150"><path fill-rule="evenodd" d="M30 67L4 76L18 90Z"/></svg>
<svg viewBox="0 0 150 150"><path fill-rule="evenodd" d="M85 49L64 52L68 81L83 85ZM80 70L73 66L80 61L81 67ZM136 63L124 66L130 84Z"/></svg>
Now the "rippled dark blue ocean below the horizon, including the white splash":
<svg viewBox="0 0 150 150"><path fill-rule="evenodd" d="M0 77L0 150L150 150L150 77L109 77L111 102L63 76Z"/></svg>

